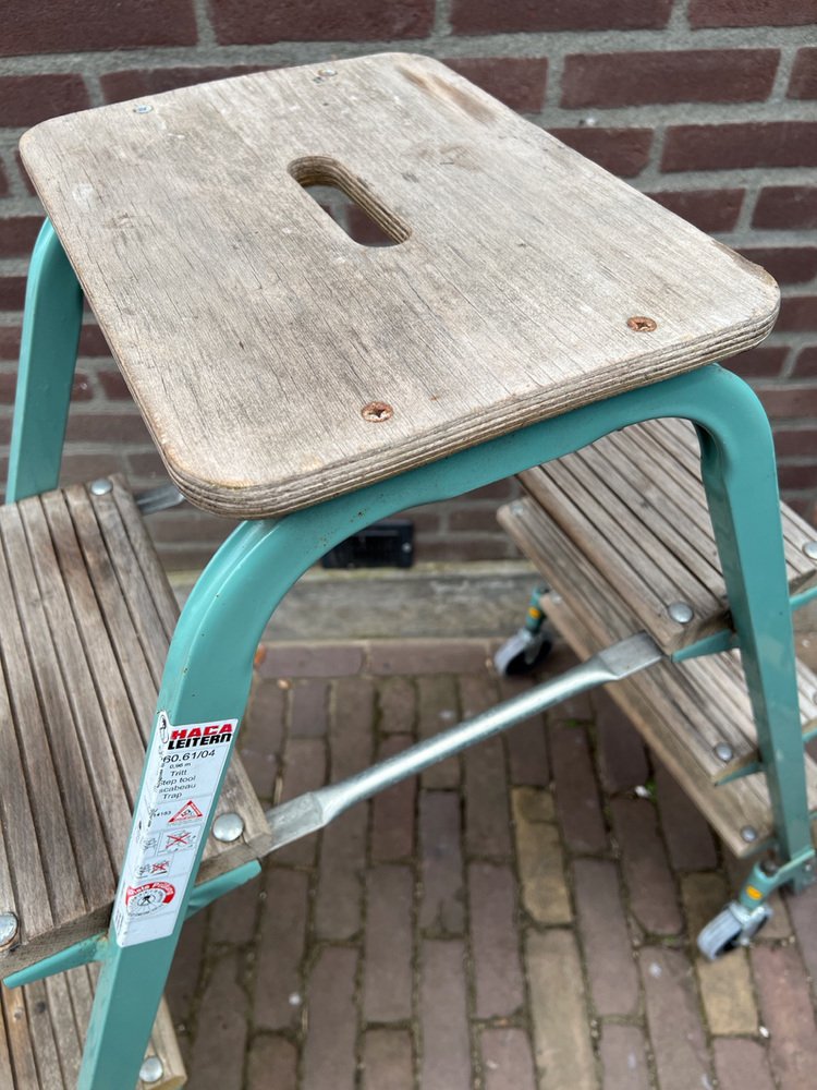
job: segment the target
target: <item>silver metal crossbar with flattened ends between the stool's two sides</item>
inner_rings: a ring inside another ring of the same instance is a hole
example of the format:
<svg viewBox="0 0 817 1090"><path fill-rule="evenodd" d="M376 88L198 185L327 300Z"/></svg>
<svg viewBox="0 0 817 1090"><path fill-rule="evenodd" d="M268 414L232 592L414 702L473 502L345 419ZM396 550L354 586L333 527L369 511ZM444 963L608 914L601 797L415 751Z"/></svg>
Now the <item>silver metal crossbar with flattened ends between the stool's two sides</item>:
<svg viewBox="0 0 817 1090"><path fill-rule="evenodd" d="M269 850L276 851L302 836L316 833L355 802L362 802L408 776L415 776L429 765L491 738L569 697L631 677L661 658L661 650L646 632L631 635L600 651L561 677L497 704L364 772L275 807L267 812L272 832Z"/></svg>

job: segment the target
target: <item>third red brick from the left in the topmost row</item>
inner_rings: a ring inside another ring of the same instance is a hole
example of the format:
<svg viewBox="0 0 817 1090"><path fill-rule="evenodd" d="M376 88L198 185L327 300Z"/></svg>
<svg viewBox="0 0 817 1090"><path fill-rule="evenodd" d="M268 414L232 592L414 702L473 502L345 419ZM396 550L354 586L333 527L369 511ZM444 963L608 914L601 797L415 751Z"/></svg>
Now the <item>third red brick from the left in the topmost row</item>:
<svg viewBox="0 0 817 1090"><path fill-rule="evenodd" d="M503 31L634 31L667 25L672 0L583 0L582 3L529 3L526 0L453 0L455 34Z"/></svg>

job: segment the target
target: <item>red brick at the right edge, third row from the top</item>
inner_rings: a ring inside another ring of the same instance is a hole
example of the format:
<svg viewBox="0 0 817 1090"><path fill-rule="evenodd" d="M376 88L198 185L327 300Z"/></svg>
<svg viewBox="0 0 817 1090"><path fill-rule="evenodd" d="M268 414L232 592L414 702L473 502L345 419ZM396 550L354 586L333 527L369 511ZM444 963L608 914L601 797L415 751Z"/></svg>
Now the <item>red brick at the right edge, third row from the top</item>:
<svg viewBox="0 0 817 1090"><path fill-rule="evenodd" d="M661 160L664 171L816 166L817 121L673 125Z"/></svg>

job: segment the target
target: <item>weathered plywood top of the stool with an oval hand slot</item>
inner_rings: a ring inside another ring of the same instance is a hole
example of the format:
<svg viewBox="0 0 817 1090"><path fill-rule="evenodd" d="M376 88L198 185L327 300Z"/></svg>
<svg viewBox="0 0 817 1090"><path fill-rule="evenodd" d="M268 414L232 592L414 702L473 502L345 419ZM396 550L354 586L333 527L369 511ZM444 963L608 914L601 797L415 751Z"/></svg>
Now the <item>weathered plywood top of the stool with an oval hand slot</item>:
<svg viewBox="0 0 817 1090"><path fill-rule="evenodd" d="M200 507L281 514L730 355L775 320L761 269L427 57L141 101L47 121L22 153ZM301 184L327 177L399 244L353 242Z"/></svg>

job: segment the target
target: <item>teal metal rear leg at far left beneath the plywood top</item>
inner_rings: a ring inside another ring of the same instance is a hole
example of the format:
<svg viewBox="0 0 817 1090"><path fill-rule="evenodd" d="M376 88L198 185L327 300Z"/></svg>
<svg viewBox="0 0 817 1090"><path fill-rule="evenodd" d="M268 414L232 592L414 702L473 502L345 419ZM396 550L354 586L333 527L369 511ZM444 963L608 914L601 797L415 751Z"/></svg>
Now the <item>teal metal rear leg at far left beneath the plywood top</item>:
<svg viewBox="0 0 817 1090"><path fill-rule="evenodd" d="M56 488L82 327L83 295L49 220L32 254L5 499Z"/></svg>

